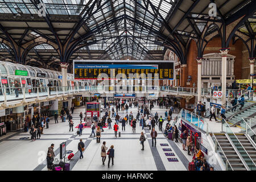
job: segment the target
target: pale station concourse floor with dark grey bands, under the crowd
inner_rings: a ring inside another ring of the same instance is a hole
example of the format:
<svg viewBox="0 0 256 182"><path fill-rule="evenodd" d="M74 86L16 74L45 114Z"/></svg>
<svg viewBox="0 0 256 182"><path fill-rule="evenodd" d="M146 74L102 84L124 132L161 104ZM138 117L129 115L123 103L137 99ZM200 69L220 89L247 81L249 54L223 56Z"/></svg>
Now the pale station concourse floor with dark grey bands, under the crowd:
<svg viewBox="0 0 256 182"><path fill-rule="evenodd" d="M47 171L46 155L48 147L51 146L51 143L55 144L55 159L59 160L59 145L62 142L66 142L66 150L71 150L75 154L71 160L66 159L66 162L71 164L71 170L73 171L187 171L192 155L189 156L187 151L182 150L180 142L175 143L164 137L163 133L159 131L158 126L155 127L155 130L158 132L156 147L152 147L151 130L142 130L138 122L136 133L133 133L129 123L126 125L126 130L122 131L122 126L119 123L121 137L115 138L113 130L114 118L112 118L112 129L105 128L104 132L101 133L101 143L96 143L96 137L93 137L93 135L90 137L92 131L90 128L85 128L82 131L81 137L76 134L77 129L75 127L80 123L79 114L81 111L84 115L84 106L76 107L72 114L74 121L73 131L69 131L68 119L66 122L61 122L61 119L58 119L59 123L55 124L54 119L51 118L49 129L44 128L44 134L34 142L30 140L29 132L7 133L6 137L0 137L0 171ZM128 114L130 111L133 112L135 117L138 107L129 108ZM159 109L159 106L155 105L152 109L152 114L155 114L155 111L158 111L159 117L160 115L164 117L166 109ZM101 116L104 114L102 112ZM119 111L119 115L124 117L126 111L124 113ZM172 114L172 118L175 116L177 116L177 113ZM163 123L163 131L165 126L166 121ZM144 151L141 150L142 146L139 142L142 131L146 137ZM83 159L79 159L80 152L77 152L80 138L85 143ZM112 166L110 162L110 168L108 168L108 156L105 166L102 166L101 146L103 141L106 141L106 147L108 148L112 144L114 145L114 165ZM167 143L168 146L160 146L160 143ZM162 148L171 148L171 151L164 152ZM166 156L164 153L173 153L175 156ZM168 162L167 158L176 158L177 162Z"/></svg>

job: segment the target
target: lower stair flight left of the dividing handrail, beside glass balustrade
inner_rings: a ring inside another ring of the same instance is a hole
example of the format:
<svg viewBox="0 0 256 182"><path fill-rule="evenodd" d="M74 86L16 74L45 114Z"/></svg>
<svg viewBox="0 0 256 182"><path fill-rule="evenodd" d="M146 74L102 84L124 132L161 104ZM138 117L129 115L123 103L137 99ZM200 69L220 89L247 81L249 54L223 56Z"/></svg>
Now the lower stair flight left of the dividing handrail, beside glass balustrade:
<svg viewBox="0 0 256 182"><path fill-rule="evenodd" d="M240 157L238 156L237 152L232 147L232 144L229 142L228 138L224 133L214 133L222 151L224 152L226 158L228 159L230 166L233 168L234 171L247 171L246 167L243 165ZM222 157L225 161L226 159ZM228 170L231 170L228 167Z"/></svg>

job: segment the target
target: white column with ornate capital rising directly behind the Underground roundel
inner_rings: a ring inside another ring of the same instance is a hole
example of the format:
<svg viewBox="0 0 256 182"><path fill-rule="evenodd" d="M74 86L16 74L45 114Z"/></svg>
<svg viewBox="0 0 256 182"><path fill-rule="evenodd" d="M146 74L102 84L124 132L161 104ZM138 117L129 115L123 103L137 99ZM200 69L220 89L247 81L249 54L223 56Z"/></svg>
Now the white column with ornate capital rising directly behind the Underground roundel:
<svg viewBox="0 0 256 182"><path fill-rule="evenodd" d="M226 56L228 55L229 48L220 49L221 57L222 57L222 65L221 65L221 90L222 90L222 98L221 105L226 104Z"/></svg>

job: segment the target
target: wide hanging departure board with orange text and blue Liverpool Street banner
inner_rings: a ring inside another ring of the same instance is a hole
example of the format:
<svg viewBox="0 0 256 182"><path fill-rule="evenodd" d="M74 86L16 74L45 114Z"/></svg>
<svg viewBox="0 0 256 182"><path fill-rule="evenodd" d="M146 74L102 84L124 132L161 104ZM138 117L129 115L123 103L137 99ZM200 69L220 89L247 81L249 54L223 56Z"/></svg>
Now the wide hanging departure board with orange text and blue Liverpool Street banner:
<svg viewBox="0 0 256 182"><path fill-rule="evenodd" d="M73 73L75 79L174 79L174 63L150 63L150 64L104 64L86 60L73 61Z"/></svg>

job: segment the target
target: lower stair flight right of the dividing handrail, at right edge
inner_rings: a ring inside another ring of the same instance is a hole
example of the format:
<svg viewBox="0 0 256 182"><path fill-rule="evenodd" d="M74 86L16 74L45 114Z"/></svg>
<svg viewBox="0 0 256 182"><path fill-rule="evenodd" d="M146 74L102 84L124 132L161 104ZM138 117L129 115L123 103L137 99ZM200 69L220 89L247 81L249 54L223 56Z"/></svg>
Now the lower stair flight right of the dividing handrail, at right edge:
<svg viewBox="0 0 256 182"><path fill-rule="evenodd" d="M253 144L251 144L250 140L247 139L245 134L242 134L242 133L235 133L236 136L234 136L234 134L228 134L228 135L229 135L229 138L234 143L234 146L236 146L238 152L240 152L242 158L245 160L247 166L251 170L256 170L256 166L255 166L255 164L256 164L256 149L253 146ZM237 141L237 139L240 141L242 146ZM251 160L253 160L254 163Z"/></svg>

